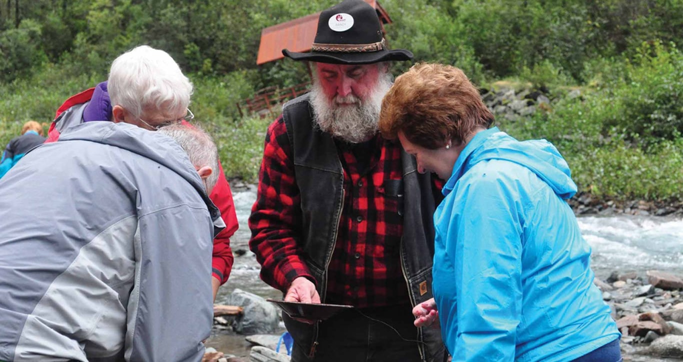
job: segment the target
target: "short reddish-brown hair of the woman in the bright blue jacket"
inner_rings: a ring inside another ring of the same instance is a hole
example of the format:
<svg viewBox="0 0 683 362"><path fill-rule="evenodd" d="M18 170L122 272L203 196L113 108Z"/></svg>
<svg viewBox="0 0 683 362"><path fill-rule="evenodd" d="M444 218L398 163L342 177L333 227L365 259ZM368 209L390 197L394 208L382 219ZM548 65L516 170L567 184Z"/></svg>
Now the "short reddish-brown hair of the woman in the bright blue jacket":
<svg viewBox="0 0 683 362"><path fill-rule="evenodd" d="M382 100L380 132L398 132L426 149L455 145L477 127L488 128L493 114L462 70L451 65L421 63L398 76Z"/></svg>

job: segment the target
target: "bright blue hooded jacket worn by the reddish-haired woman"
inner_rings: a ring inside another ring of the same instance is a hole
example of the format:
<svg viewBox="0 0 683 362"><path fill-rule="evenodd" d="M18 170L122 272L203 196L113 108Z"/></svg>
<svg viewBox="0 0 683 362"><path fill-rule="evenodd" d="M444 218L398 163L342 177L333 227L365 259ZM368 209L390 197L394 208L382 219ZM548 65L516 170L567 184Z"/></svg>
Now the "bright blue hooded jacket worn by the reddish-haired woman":
<svg viewBox="0 0 683 362"><path fill-rule="evenodd" d="M453 361L571 361L621 335L564 199L567 162L496 127L464 148L434 213L433 288Z"/></svg>

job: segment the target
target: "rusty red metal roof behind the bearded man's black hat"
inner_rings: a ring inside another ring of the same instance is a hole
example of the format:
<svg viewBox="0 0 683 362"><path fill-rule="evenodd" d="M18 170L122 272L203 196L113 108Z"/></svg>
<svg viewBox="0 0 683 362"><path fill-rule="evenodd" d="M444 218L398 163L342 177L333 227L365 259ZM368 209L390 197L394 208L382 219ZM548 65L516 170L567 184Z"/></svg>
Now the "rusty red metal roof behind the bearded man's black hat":
<svg viewBox="0 0 683 362"><path fill-rule="evenodd" d="M377 15L383 24L390 24L389 14L376 0L365 0L377 10ZM283 49L292 52L307 52L311 50L311 44L318 30L318 16L320 12L283 22L261 31L261 42L258 47L256 64L261 65L269 61L282 59ZM383 28L382 28L383 30Z"/></svg>

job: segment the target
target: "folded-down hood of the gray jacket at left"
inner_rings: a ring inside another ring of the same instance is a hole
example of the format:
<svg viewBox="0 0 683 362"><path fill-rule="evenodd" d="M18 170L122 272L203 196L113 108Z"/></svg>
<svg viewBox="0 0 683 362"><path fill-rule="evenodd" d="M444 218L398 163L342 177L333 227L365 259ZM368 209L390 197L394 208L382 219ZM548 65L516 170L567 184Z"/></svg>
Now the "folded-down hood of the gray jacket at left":
<svg viewBox="0 0 683 362"><path fill-rule="evenodd" d="M158 132L143 130L128 123L92 121L68 128L68 131L59 136L57 142L72 140L85 140L126 149L170 168L193 185L206 202L211 218L214 220L214 228L219 228L214 235L225 228L221 212L206 194L204 182L201 181L185 151L173 138Z"/></svg>

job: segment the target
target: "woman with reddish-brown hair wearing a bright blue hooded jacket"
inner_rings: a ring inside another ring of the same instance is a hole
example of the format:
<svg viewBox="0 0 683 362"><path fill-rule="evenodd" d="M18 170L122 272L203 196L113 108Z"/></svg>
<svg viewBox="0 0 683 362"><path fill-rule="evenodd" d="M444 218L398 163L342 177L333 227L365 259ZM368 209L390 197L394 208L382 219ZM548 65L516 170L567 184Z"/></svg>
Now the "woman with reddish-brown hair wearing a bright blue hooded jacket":
<svg viewBox="0 0 683 362"><path fill-rule="evenodd" d="M434 213L434 299L453 361L621 361L616 323L593 284L591 248L566 202L567 162L520 142L456 67L413 66L382 102L380 130L447 180Z"/></svg>

